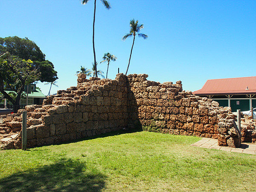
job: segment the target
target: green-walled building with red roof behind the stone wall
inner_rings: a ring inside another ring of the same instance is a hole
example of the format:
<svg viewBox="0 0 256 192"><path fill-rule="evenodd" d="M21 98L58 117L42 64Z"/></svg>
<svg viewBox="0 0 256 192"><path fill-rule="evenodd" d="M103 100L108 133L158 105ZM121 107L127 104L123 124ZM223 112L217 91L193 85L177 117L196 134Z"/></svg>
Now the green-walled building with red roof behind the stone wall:
<svg viewBox="0 0 256 192"><path fill-rule="evenodd" d="M209 79L204 86L193 94L204 96L228 106L232 111L248 111L256 108L256 76L228 79Z"/></svg>

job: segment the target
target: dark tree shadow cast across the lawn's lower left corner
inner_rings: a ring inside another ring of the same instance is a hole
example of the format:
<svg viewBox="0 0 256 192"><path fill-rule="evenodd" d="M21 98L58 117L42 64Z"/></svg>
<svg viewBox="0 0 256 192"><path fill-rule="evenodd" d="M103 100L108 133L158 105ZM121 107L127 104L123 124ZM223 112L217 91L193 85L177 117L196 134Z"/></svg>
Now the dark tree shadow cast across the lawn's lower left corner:
<svg viewBox="0 0 256 192"><path fill-rule="evenodd" d="M0 192L99 192L105 179L98 170L87 169L84 162L65 159L1 179Z"/></svg>

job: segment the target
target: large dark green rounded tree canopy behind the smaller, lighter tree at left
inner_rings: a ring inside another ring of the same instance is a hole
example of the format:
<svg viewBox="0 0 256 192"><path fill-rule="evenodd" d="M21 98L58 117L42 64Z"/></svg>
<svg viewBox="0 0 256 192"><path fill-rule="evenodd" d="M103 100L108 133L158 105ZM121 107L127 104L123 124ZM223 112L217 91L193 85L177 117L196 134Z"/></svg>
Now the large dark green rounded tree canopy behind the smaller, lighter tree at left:
<svg viewBox="0 0 256 192"><path fill-rule="evenodd" d="M57 71L52 62L45 60L44 53L28 38L6 37L0 38L0 54L9 52L21 59L33 61L32 65L38 69L39 81L53 82L58 79Z"/></svg>

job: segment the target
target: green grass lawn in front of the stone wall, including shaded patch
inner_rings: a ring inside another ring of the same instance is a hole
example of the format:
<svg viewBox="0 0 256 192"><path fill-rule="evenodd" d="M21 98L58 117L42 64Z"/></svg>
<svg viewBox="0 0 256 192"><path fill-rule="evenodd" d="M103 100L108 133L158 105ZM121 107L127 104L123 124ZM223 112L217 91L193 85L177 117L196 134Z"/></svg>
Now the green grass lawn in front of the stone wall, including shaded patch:
<svg viewBox="0 0 256 192"><path fill-rule="evenodd" d="M192 147L198 137L117 131L0 151L0 192L255 192L256 156Z"/></svg>

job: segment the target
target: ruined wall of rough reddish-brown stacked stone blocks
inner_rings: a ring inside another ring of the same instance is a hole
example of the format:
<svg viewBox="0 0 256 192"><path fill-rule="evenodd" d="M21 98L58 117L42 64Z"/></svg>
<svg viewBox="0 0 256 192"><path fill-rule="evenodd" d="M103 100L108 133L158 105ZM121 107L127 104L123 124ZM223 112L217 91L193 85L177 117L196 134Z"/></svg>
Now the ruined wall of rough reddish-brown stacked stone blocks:
<svg viewBox="0 0 256 192"><path fill-rule="evenodd" d="M26 106L27 147L81 139L122 128L218 138L219 145L255 142L255 126L237 134L230 108L192 95L176 84L147 81L146 74L119 73L115 80L78 75L76 87L47 96L43 105ZM0 134L17 137L2 148L21 148L22 110L0 124ZM235 131L234 131L235 130ZM239 144L240 145L240 144Z"/></svg>

